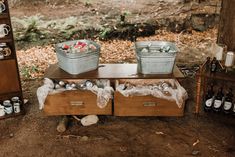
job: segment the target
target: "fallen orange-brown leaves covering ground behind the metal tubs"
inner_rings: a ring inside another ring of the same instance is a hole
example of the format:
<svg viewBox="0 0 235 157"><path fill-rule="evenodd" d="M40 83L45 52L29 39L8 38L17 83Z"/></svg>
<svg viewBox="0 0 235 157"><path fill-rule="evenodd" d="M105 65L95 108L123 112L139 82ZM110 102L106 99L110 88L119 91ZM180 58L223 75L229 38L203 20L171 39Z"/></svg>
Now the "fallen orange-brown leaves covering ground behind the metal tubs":
<svg viewBox="0 0 235 157"><path fill-rule="evenodd" d="M163 40L175 42L180 49L177 64L200 64L211 56L210 47L216 42L217 29L204 32L173 33L156 31L156 35L139 37L137 41ZM101 45L100 63L136 63L134 43L128 40L96 40ZM17 58L22 79L42 78L50 64L58 62L54 45L36 46L18 50Z"/></svg>

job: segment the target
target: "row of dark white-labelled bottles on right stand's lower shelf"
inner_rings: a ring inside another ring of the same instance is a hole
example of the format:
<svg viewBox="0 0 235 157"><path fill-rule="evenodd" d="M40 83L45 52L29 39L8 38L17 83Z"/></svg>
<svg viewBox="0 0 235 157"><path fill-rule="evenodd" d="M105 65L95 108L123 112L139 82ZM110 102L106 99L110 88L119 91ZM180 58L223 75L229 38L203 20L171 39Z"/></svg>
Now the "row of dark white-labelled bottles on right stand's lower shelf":
<svg viewBox="0 0 235 157"><path fill-rule="evenodd" d="M214 111L235 115L235 102L233 100L232 88L225 91L223 87L220 87L215 92L214 85L211 84L204 97L204 110L206 112Z"/></svg>

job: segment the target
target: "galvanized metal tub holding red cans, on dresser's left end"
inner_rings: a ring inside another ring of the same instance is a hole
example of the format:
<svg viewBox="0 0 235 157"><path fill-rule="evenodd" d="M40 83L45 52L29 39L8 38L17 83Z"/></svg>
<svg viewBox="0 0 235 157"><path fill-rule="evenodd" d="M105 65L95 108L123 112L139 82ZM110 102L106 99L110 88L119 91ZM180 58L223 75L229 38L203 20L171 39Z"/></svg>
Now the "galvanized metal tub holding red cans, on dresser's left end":
<svg viewBox="0 0 235 157"><path fill-rule="evenodd" d="M89 51L83 53L65 53L61 47L64 44L72 45L77 41L86 42L87 44L92 44L96 47L96 51ZM80 73L88 72L95 70L99 65L99 56L100 56L100 46L89 40L76 40L76 41L67 41L59 43L55 46L58 65L61 69L68 72L72 75L77 75Z"/></svg>

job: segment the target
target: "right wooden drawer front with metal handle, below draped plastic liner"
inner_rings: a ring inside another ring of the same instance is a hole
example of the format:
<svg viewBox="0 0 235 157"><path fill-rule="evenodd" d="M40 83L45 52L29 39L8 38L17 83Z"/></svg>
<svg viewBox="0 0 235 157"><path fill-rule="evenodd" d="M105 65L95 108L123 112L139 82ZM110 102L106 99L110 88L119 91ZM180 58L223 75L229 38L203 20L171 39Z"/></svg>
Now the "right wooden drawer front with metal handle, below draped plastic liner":
<svg viewBox="0 0 235 157"><path fill-rule="evenodd" d="M184 105L179 108L174 101L153 96L125 97L114 93L115 116L183 116Z"/></svg>

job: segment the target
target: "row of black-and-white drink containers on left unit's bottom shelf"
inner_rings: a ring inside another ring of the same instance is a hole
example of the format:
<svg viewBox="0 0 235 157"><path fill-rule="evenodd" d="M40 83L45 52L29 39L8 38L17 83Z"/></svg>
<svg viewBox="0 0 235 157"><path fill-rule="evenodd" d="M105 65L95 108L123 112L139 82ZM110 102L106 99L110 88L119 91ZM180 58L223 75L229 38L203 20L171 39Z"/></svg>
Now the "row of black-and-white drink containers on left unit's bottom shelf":
<svg viewBox="0 0 235 157"><path fill-rule="evenodd" d="M18 114L21 112L22 101L19 97L12 97L11 100L0 102L0 118L5 115Z"/></svg>

